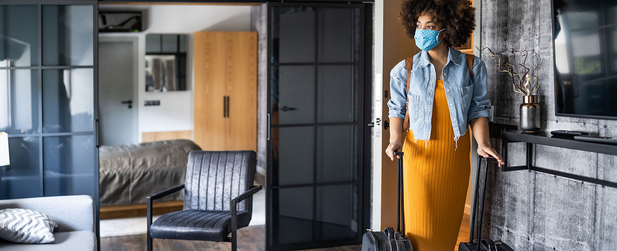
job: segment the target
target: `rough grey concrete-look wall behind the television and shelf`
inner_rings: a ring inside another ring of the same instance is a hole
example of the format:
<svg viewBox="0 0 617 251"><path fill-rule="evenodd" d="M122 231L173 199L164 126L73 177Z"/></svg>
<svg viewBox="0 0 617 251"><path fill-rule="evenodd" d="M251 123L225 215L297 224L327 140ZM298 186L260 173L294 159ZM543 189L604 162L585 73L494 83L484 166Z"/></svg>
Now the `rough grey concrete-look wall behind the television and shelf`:
<svg viewBox="0 0 617 251"><path fill-rule="evenodd" d="M617 136L617 121L555 117L553 100L550 0L483 0L482 46L536 49L542 57L538 99L542 130L578 130ZM505 73L487 62L489 97L496 123L518 125L522 97L512 91ZM492 140L499 149L500 141ZM510 144L510 165L524 165L523 143ZM534 165L617 181L617 156L538 146ZM491 168L484 234L501 239L515 250L617 249L617 189L582 183L534 171Z"/></svg>

